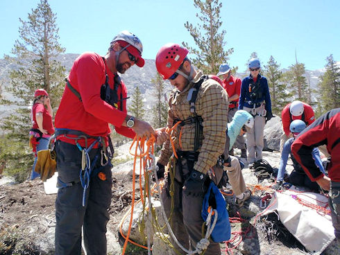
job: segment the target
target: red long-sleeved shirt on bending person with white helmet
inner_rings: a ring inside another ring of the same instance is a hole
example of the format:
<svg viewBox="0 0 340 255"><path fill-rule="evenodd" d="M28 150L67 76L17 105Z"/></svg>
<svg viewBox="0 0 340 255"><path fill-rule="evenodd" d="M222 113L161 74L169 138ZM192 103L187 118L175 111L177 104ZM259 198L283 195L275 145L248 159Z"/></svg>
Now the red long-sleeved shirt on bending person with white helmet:
<svg viewBox="0 0 340 255"><path fill-rule="evenodd" d="M289 133L290 133L289 125L291 125L291 121L295 121L296 119L300 119L300 120L303 120L306 123L306 125L310 125L315 121L313 108L310 105L308 105L307 103L303 103L303 112L304 112L304 115L305 115L305 119L302 119L303 115L301 115L301 116L291 115L291 113L289 112L290 106L291 106L291 103L286 105L282 109L282 113L281 113L282 126L283 126L284 133L287 135L287 137L289 136Z"/></svg>

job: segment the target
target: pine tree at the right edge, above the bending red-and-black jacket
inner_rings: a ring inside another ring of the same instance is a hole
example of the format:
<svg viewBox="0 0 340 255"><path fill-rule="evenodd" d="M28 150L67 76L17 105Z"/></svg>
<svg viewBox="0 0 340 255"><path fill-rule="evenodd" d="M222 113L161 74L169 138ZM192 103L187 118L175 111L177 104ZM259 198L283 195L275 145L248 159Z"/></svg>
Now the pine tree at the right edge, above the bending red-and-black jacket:
<svg viewBox="0 0 340 255"><path fill-rule="evenodd" d="M332 54L326 60L326 71L320 77L321 82L318 84L323 112L340 107L340 68Z"/></svg>

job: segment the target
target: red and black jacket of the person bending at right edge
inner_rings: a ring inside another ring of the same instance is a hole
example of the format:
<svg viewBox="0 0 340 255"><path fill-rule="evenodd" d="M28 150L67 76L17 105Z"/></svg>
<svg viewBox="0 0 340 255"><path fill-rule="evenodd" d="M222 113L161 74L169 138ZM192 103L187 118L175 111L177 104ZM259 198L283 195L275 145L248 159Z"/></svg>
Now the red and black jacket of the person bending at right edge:
<svg viewBox="0 0 340 255"><path fill-rule="evenodd" d="M312 158L313 148L323 144L327 146L331 156L328 175L332 181L340 182L340 108L323 114L303 130L291 145L291 152L296 161L312 182L323 177L323 173Z"/></svg>

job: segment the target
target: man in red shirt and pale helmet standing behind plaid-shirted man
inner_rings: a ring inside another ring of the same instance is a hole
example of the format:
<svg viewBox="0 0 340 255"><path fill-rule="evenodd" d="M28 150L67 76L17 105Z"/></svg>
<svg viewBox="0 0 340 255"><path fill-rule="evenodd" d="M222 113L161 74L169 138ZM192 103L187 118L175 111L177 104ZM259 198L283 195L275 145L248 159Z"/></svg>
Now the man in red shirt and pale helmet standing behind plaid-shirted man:
<svg viewBox="0 0 340 255"><path fill-rule="evenodd" d="M231 75L231 69L228 64L221 64L217 76L223 76L223 88L226 89L229 97L229 111L228 123L232 121L239 107L239 94L241 91L241 79ZM246 141L243 136L237 136L235 145L241 149L241 157L247 159ZM234 155L233 149L230 150L229 155Z"/></svg>

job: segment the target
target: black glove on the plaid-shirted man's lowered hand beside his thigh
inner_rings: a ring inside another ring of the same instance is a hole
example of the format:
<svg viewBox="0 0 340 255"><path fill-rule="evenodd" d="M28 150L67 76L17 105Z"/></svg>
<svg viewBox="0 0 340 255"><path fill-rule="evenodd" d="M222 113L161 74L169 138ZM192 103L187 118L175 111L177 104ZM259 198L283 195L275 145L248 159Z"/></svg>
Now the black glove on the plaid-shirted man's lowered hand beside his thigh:
<svg viewBox="0 0 340 255"><path fill-rule="evenodd" d="M184 193L185 195L191 195L192 197L203 197L206 191L205 187L205 179L207 179L207 175L200 173L196 170L192 170L189 178L184 183Z"/></svg>

